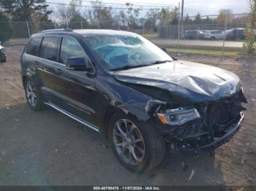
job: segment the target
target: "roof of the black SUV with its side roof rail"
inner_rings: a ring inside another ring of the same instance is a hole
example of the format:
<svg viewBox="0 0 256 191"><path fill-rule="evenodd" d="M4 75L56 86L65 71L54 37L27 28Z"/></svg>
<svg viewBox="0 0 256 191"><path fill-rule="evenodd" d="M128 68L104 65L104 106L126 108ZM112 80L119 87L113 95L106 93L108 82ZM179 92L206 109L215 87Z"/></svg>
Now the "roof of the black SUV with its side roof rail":
<svg viewBox="0 0 256 191"><path fill-rule="evenodd" d="M117 30L105 30L105 29L53 29L53 30L46 30L41 31L41 33L63 33L63 32L70 32L80 34L82 36L105 36L105 35L137 35L129 31L117 31Z"/></svg>

